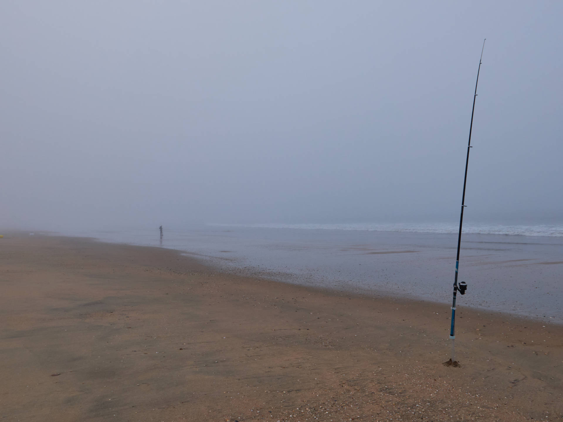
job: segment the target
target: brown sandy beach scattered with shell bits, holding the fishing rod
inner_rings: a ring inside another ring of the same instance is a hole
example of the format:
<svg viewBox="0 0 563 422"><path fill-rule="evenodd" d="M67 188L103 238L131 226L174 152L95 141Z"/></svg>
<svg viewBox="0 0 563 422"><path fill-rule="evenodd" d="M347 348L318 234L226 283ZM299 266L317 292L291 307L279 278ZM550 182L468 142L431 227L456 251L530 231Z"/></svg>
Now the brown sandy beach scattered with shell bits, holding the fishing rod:
<svg viewBox="0 0 563 422"><path fill-rule="evenodd" d="M174 250L5 233L0 417L557 420L563 327L215 272Z"/></svg>

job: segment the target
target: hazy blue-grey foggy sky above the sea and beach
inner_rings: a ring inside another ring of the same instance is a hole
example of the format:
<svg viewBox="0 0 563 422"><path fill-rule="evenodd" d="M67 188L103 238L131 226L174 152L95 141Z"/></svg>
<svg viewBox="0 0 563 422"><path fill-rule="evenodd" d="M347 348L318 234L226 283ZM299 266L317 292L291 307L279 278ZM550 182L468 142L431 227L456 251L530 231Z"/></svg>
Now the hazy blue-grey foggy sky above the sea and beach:
<svg viewBox="0 0 563 422"><path fill-rule="evenodd" d="M563 2L25 1L0 226L563 219Z"/></svg>

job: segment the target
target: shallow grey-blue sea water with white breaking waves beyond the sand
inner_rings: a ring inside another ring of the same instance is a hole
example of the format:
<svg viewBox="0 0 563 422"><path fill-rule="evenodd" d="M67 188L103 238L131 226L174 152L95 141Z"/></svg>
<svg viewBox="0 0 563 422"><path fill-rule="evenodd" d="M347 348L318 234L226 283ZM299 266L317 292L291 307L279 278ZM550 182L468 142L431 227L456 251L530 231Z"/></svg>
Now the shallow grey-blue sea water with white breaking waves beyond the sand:
<svg viewBox="0 0 563 422"><path fill-rule="evenodd" d="M557 225L464 226L459 281L466 281L468 290L458 295L458 304L563 324L562 233ZM64 234L178 249L219 270L243 275L432 300L446 312L451 306L455 225L164 227L162 240L158 228Z"/></svg>

